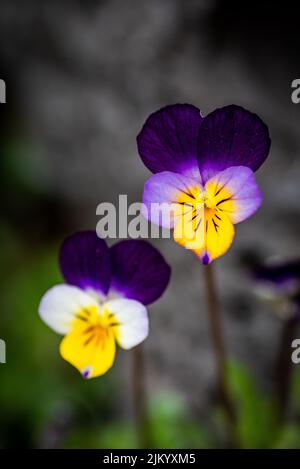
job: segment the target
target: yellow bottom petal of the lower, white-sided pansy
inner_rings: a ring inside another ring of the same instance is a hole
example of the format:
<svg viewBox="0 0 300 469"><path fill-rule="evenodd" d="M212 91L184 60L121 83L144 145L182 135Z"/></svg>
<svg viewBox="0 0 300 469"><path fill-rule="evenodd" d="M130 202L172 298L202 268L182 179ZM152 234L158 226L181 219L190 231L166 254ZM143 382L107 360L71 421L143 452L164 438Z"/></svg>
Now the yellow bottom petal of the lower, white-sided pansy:
<svg viewBox="0 0 300 469"><path fill-rule="evenodd" d="M84 378L101 376L114 362L116 343L113 331L78 319L62 340L60 353Z"/></svg>

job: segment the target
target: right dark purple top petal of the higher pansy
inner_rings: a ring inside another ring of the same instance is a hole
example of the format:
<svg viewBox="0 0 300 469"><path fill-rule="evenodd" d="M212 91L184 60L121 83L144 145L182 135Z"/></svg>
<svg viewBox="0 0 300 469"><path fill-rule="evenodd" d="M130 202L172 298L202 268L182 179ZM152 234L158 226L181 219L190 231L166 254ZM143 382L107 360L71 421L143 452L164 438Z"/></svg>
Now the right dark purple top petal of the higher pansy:
<svg viewBox="0 0 300 469"><path fill-rule="evenodd" d="M203 182L230 166L256 171L268 156L268 127L240 106L225 106L206 116L198 138L198 164Z"/></svg>

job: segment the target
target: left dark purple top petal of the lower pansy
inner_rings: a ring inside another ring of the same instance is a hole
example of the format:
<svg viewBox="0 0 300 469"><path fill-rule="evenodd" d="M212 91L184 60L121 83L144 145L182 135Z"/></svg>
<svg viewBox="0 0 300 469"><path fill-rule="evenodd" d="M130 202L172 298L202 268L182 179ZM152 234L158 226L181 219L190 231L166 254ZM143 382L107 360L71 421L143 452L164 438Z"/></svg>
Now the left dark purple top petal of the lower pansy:
<svg viewBox="0 0 300 469"><path fill-rule="evenodd" d="M109 249L94 231L75 233L67 238L59 260L67 283L107 294L111 278Z"/></svg>

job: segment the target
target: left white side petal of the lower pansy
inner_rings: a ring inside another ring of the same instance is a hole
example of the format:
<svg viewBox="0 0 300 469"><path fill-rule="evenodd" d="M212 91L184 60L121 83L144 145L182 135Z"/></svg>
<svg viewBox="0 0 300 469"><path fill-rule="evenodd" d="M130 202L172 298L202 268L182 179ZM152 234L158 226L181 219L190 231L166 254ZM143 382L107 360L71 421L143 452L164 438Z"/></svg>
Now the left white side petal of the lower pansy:
<svg viewBox="0 0 300 469"><path fill-rule="evenodd" d="M70 331L72 321L79 310L90 307L98 308L98 304L80 288L56 285L42 297L39 314L51 329L65 335Z"/></svg>

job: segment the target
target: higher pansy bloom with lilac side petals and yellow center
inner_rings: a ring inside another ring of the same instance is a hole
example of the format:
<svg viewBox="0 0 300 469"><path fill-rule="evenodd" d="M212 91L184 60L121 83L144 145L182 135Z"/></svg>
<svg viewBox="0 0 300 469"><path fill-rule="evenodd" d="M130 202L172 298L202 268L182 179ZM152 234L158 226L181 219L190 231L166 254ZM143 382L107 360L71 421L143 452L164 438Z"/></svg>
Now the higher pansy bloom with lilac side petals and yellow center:
<svg viewBox="0 0 300 469"><path fill-rule="evenodd" d="M210 263L230 247L233 225L261 204L254 171L270 143L262 120L235 105L206 117L190 104L151 114L137 137L139 154L155 173L144 188L145 216L174 228L175 241Z"/></svg>

